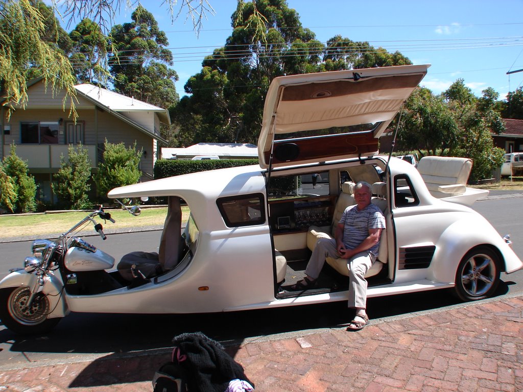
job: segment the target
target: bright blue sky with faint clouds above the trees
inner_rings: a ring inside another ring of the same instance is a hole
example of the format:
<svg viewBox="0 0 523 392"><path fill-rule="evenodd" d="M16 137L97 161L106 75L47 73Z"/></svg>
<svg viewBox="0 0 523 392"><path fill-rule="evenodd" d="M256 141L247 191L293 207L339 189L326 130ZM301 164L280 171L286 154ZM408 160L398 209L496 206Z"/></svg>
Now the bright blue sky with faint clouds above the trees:
<svg viewBox="0 0 523 392"><path fill-rule="evenodd" d="M141 3L167 33L181 96L187 79L200 71L203 57L223 46L230 35L236 0L209 0L215 14L203 21L199 37L185 13L172 24L167 7L160 6L162 2ZM463 78L476 96L493 87L500 99L523 85L523 72L506 74L523 68L521 0L288 0L288 5L298 11L303 27L310 28L322 42L340 34L389 52L399 50L414 64L431 64L421 84L435 94L457 78ZM131 13L122 8L117 21L130 21Z"/></svg>

